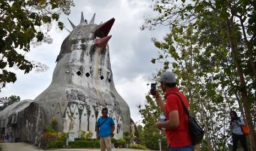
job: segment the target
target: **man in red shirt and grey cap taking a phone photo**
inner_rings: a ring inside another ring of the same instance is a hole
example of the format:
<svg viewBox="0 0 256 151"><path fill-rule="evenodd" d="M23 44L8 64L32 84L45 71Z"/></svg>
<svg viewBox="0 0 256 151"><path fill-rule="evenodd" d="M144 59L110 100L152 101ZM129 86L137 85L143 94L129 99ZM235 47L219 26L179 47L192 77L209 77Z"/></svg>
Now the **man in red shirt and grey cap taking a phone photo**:
<svg viewBox="0 0 256 151"><path fill-rule="evenodd" d="M178 88L176 88L175 74L170 71L161 74L157 81L161 84L162 91L165 92L166 103L162 101L158 91L151 92L156 98L157 104L159 104L161 110L166 115L166 121L159 121L156 123L158 129L165 128L167 137L167 144L170 151L190 151L194 150L194 146L190 140L188 129L188 117L183 110L183 106L179 97L173 93L181 96L185 106L188 108L189 103Z"/></svg>

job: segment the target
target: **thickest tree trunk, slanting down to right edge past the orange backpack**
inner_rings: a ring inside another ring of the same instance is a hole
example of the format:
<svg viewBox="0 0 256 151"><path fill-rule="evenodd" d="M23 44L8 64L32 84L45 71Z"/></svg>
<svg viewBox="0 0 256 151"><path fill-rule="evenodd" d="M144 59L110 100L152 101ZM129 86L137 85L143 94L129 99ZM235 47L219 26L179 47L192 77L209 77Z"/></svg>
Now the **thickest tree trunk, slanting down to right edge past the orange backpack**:
<svg viewBox="0 0 256 151"><path fill-rule="evenodd" d="M256 135L255 135L255 130L254 130L254 125L252 122L252 114L250 113L250 104L249 104L249 99L247 96L247 88L246 88L246 82L244 80L244 75L243 71L241 68L241 65L239 64L239 57L238 57L238 50L237 50L237 42L235 40L234 34L233 34L233 16L231 19L227 19L227 28L228 28L228 36L230 40L230 45L231 45L231 51L232 51L232 56L235 61L235 65L237 68L237 73L239 75L239 80L241 84L241 96L242 96L242 102L244 104L244 112L246 114L246 119L247 119L247 124L250 129L250 146L252 150L256 150Z"/></svg>

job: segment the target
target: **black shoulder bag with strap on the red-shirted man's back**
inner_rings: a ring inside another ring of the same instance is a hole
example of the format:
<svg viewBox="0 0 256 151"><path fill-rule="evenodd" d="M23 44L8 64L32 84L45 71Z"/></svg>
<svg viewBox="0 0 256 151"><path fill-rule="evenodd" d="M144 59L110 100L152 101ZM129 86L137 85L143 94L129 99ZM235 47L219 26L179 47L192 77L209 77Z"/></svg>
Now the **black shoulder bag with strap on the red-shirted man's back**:
<svg viewBox="0 0 256 151"><path fill-rule="evenodd" d="M199 143L201 143L201 141L203 140L204 137L204 130L201 128L201 126L197 123L197 120L195 120L195 118L191 117L189 115L188 109L185 106L181 96L179 96L178 94L171 93L171 94L175 94L179 97L179 100L181 100L184 112L187 114L188 116L188 128L189 128L189 134L190 134L190 138L191 141L193 143L193 145L197 145Z"/></svg>

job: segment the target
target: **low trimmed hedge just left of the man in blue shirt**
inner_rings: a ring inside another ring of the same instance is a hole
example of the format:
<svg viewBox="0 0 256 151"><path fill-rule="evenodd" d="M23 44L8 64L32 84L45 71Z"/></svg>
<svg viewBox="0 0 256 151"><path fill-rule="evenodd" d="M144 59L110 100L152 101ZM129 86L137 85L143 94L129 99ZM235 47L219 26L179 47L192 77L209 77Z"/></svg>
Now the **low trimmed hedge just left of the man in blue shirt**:
<svg viewBox="0 0 256 151"><path fill-rule="evenodd" d="M100 148L99 140L68 142L69 148Z"/></svg>

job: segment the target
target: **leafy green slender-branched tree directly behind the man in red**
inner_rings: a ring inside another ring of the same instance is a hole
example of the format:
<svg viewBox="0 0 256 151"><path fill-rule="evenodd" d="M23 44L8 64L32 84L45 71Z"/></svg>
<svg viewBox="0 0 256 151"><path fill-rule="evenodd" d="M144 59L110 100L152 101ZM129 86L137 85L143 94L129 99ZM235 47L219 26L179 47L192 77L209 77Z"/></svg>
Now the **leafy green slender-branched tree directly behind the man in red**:
<svg viewBox="0 0 256 151"><path fill-rule="evenodd" d="M200 26L212 20L204 20ZM192 25L172 26L164 42L154 39L160 51L159 57L151 61L162 63L164 69L171 68L176 73L178 88L189 98L190 113L205 129L205 140L197 148L227 150L230 140L227 120L229 111L236 108L232 96L238 87L237 83L230 87L234 80L229 76L236 75L236 70L227 45L224 47L227 36L216 34L222 28L202 30L200 26L198 29ZM213 37L219 39L213 42ZM226 65L222 65L224 62Z"/></svg>

